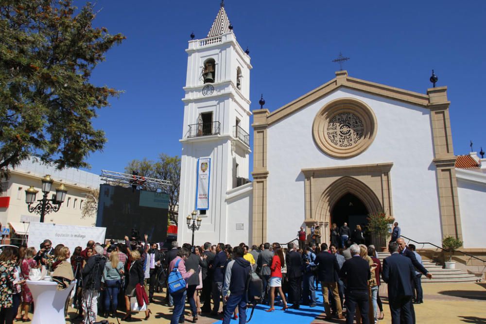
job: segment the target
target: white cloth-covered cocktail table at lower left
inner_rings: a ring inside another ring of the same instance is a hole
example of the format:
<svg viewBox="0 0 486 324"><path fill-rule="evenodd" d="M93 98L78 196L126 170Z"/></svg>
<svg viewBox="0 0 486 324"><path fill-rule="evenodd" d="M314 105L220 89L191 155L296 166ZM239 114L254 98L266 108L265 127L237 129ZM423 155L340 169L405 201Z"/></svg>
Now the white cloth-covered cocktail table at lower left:
<svg viewBox="0 0 486 324"><path fill-rule="evenodd" d="M65 290L57 290L57 282L54 281L27 280L26 283L34 297L32 324L65 324L64 307L76 280Z"/></svg>

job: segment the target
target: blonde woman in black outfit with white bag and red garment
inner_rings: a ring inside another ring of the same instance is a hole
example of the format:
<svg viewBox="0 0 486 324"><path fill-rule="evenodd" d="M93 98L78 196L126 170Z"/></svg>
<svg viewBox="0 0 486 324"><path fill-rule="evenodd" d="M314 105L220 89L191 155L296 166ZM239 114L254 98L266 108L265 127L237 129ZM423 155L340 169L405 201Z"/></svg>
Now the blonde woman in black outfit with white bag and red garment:
<svg viewBox="0 0 486 324"><path fill-rule="evenodd" d="M143 264L140 261L140 252L137 250L130 251L130 257L128 258L128 269L127 269L127 285L125 288L125 306L126 315L122 321L128 321L132 318L131 308L130 308L130 297L137 296L137 284L143 287L143 279L145 279L145 274L143 273ZM145 311L145 320L150 317L150 309L147 308Z"/></svg>

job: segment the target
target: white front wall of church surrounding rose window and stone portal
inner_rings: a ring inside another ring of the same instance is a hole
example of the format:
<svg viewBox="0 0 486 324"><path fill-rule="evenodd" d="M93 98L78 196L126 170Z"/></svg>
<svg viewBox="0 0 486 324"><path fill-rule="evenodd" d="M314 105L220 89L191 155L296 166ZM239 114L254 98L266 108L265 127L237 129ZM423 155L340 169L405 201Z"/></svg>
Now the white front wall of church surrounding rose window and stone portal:
<svg viewBox="0 0 486 324"><path fill-rule="evenodd" d="M312 138L312 122L326 103L351 97L365 102L377 119L377 134L358 156L332 158ZM401 233L416 240L441 241L430 111L356 90L341 88L268 127L268 241L295 238L305 218L301 169L392 162L393 217Z"/></svg>

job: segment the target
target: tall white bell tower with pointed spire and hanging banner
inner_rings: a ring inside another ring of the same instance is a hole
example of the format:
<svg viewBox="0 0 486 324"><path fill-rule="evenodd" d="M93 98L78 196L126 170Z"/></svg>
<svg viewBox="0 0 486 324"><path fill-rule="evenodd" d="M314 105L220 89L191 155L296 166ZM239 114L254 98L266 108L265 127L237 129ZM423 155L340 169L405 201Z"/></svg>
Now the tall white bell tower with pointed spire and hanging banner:
<svg viewBox="0 0 486 324"><path fill-rule="evenodd" d="M205 38L191 34L182 128L177 240L228 242L227 192L248 182L250 56L236 40L224 6ZM192 222L191 222L192 223Z"/></svg>

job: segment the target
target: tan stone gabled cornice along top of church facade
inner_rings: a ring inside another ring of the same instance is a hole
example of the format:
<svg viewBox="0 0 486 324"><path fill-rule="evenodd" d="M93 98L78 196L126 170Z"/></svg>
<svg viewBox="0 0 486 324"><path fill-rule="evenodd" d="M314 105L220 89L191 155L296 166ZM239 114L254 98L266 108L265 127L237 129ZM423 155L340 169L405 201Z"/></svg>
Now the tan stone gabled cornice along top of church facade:
<svg viewBox="0 0 486 324"><path fill-rule="evenodd" d="M349 77L347 71L336 72L336 77L325 84L309 91L292 102L278 108L268 115L268 124L272 124L286 116L302 109L304 106L329 94L340 87L371 93L380 97L407 102L414 105L429 107L430 96L419 92L382 85L379 83ZM447 87L445 87L447 89Z"/></svg>

